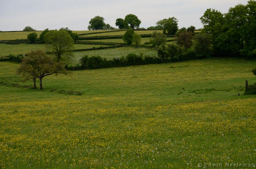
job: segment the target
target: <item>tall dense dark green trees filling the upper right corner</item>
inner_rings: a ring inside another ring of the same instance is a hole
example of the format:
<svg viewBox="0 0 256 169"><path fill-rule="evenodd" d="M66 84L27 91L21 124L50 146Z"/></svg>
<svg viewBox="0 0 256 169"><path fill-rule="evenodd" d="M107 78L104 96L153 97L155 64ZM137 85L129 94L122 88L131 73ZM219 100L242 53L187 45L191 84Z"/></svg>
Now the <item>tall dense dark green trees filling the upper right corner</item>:
<svg viewBox="0 0 256 169"><path fill-rule="evenodd" d="M256 1L238 4L227 14L207 9L200 18L203 31L212 35L216 54L256 56Z"/></svg>

